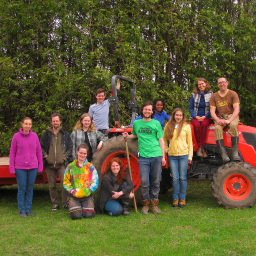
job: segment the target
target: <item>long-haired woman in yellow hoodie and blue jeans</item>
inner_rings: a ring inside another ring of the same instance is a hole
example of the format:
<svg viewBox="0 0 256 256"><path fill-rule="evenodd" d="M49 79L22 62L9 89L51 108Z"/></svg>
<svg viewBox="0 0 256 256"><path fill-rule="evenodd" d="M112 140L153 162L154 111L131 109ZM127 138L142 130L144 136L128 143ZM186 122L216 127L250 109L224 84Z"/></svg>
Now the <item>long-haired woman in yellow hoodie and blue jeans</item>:
<svg viewBox="0 0 256 256"><path fill-rule="evenodd" d="M172 176L172 207L184 207L186 171L187 165L192 162L193 144L191 128L185 121L184 111L181 108L177 107L173 110L163 129L163 140ZM178 181L180 181L180 189Z"/></svg>

